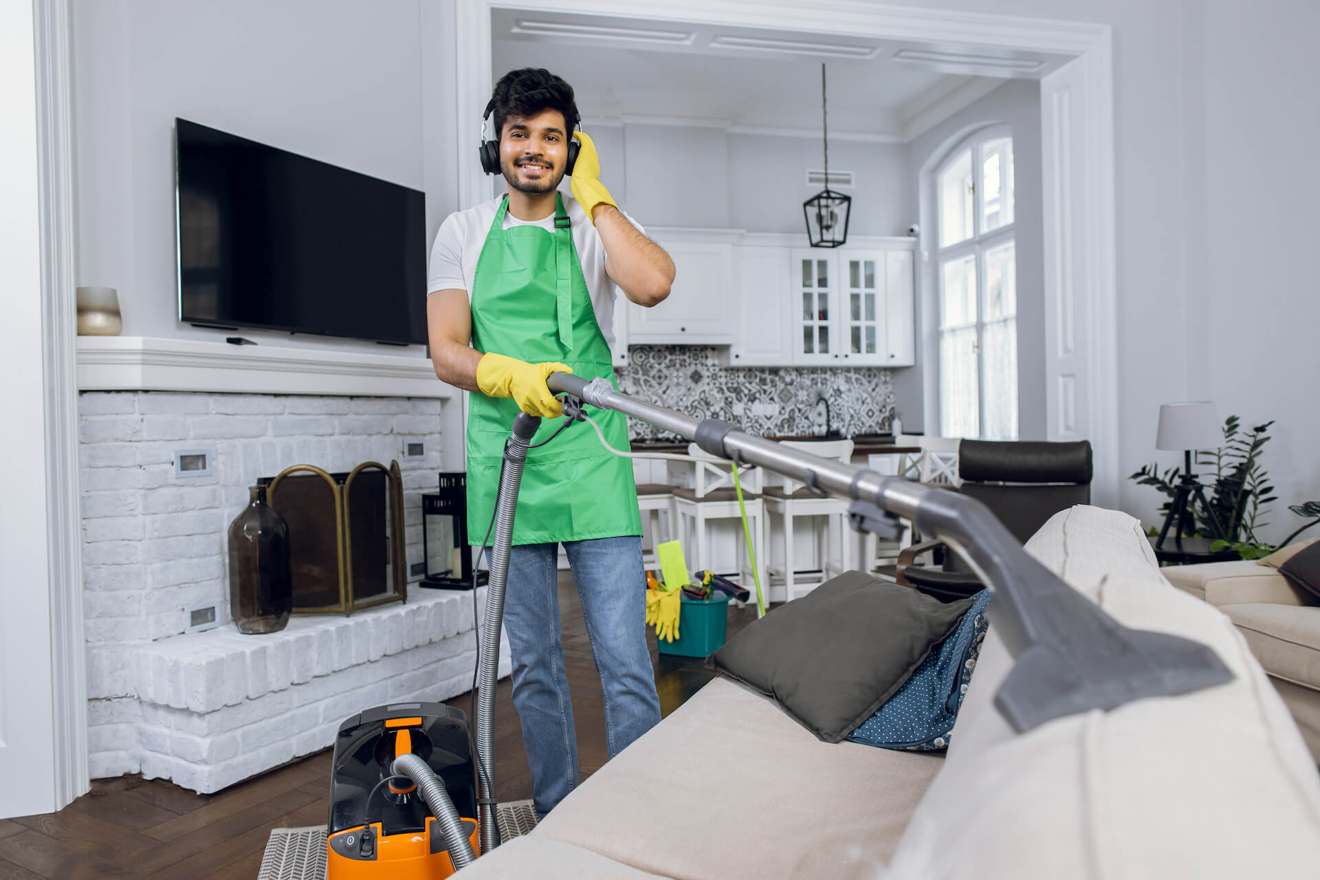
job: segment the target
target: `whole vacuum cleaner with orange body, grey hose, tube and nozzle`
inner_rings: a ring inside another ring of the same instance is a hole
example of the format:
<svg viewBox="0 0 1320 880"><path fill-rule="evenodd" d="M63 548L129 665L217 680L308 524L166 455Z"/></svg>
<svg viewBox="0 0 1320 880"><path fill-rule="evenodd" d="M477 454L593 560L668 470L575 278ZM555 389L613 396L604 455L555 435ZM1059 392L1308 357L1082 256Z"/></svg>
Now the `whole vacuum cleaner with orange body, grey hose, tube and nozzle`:
<svg viewBox="0 0 1320 880"><path fill-rule="evenodd" d="M1233 678L1206 645L1114 620L1028 555L975 499L780 446L722 420L684 416L618 392L605 379L550 373L546 385L565 396L568 420L560 430L586 421L616 455L648 458L610 447L586 405L643 420L711 455L764 467L821 496L849 499L849 522L857 530L895 537L902 516L939 537L994 591L989 613L1015 661L994 705L1018 732ZM380 706L339 727L327 880L446 877L500 843L491 757L499 639L517 487L540 421L519 413L504 447L478 641L475 728L462 711L441 703Z"/></svg>

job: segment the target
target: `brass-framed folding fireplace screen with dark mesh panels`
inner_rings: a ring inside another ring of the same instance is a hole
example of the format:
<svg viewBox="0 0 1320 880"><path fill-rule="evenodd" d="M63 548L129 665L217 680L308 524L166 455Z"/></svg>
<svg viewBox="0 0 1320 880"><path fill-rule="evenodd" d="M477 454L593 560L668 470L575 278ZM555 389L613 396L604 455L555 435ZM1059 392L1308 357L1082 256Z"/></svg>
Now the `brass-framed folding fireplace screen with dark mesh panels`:
<svg viewBox="0 0 1320 880"><path fill-rule="evenodd" d="M289 525L294 613L350 615L407 600L399 462L363 462L347 474L294 464L257 483Z"/></svg>

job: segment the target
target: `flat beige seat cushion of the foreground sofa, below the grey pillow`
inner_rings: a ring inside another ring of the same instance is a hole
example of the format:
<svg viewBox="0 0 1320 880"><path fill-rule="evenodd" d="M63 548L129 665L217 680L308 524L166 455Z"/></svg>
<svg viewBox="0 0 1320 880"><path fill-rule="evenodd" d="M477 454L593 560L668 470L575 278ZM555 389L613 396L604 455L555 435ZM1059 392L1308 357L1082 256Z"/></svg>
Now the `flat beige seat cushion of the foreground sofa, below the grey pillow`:
<svg viewBox="0 0 1320 880"><path fill-rule="evenodd" d="M689 880L875 877L942 764L941 753L821 743L774 702L717 678L532 836Z"/></svg>

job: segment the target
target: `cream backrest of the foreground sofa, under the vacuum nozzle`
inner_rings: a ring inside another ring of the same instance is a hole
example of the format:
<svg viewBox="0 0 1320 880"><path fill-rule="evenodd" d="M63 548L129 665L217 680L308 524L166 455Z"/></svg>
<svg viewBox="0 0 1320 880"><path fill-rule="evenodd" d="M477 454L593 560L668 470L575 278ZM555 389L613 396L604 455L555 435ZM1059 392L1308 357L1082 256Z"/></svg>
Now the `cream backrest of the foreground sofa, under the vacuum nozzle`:
<svg viewBox="0 0 1320 880"><path fill-rule="evenodd" d="M1160 577L1140 524L1077 507L1028 542L1119 621L1209 645L1226 685L1015 734L993 706L1012 658L994 625L944 770L908 823L895 877L1309 876L1320 780L1232 621Z"/></svg>

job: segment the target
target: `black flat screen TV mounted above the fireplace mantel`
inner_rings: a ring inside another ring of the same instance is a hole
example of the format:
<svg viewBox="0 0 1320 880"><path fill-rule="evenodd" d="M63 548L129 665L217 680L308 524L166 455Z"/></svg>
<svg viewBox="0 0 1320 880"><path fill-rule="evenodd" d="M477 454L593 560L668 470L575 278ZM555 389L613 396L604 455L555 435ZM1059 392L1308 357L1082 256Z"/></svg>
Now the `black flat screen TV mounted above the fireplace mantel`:
<svg viewBox="0 0 1320 880"><path fill-rule="evenodd" d="M426 342L425 197L174 120L178 315Z"/></svg>

